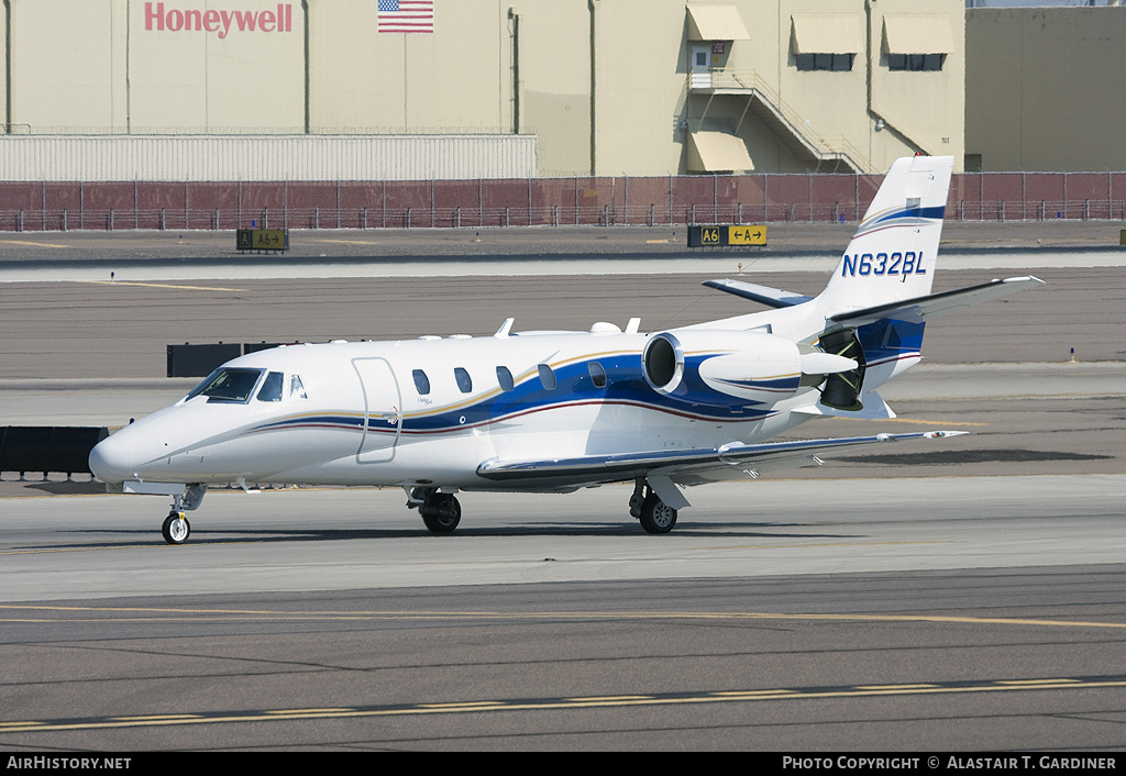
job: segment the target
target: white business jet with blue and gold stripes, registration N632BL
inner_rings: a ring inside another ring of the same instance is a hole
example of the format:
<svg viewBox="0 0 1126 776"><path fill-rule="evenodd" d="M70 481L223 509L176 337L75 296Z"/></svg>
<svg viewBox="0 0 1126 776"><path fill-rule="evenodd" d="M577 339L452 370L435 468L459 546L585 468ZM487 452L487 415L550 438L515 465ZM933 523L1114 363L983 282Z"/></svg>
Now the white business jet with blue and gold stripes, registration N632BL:
<svg viewBox="0 0 1126 776"><path fill-rule="evenodd" d="M951 164L896 161L819 296L709 280L770 310L650 333L636 318L520 333L509 319L491 337L263 350L101 441L90 469L111 491L172 497L171 544L207 487L229 483L400 487L440 534L461 520L458 491L633 482L629 514L663 534L683 488L951 436L766 441L819 417L894 417L876 389L919 363L929 319L1042 283L930 293Z"/></svg>

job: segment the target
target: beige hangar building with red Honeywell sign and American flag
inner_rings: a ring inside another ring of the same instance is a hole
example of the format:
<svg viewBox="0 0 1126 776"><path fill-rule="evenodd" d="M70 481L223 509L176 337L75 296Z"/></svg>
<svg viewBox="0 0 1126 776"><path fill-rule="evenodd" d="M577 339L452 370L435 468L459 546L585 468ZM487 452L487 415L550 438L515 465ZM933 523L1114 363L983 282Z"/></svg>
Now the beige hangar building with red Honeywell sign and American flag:
<svg viewBox="0 0 1126 776"><path fill-rule="evenodd" d="M964 158L963 0L3 0L7 180Z"/></svg>

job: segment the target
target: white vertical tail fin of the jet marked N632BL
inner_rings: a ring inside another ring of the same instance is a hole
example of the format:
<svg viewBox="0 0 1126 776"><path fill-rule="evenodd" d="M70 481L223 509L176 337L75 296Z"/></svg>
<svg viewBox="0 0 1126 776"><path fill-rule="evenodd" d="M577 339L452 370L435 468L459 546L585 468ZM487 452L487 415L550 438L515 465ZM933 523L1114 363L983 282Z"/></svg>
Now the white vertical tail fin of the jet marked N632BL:
<svg viewBox="0 0 1126 776"><path fill-rule="evenodd" d="M953 166L953 157L892 164L816 298L825 318L930 293Z"/></svg>

